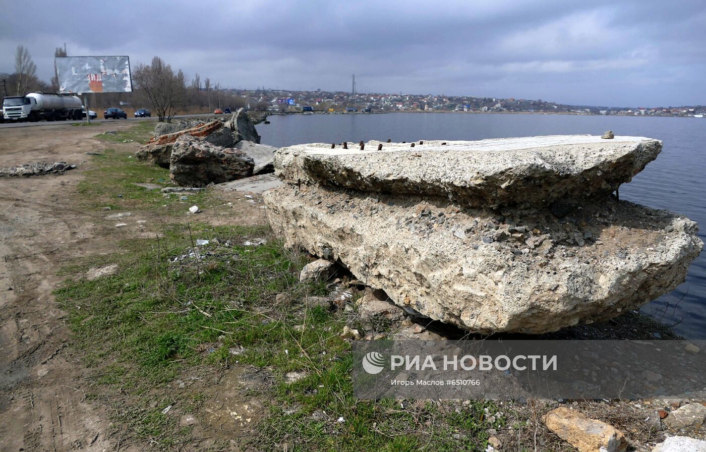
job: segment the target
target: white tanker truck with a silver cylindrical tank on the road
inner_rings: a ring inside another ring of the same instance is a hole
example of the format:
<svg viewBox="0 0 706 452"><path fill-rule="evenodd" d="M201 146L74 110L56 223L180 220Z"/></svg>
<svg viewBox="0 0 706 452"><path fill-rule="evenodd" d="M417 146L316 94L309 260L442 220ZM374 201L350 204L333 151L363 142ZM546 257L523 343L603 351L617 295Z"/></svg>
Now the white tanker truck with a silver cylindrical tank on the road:
<svg viewBox="0 0 706 452"><path fill-rule="evenodd" d="M2 100L5 121L65 121L83 119L81 100L71 94L29 93Z"/></svg>

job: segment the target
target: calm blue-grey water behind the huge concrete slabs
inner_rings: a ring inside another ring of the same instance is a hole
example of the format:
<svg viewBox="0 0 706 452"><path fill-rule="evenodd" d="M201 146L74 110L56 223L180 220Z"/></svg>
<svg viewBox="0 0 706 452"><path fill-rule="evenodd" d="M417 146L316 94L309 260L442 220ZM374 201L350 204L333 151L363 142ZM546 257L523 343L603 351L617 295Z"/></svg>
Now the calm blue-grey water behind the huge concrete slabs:
<svg viewBox="0 0 706 452"><path fill-rule="evenodd" d="M622 199L669 209L699 223L706 241L706 118L602 117L544 114L311 114L275 116L259 124L264 144L480 140L516 136L590 133L647 136L664 141L657 160L629 184ZM686 338L706 338L706 253L694 261L686 283L642 311L675 325Z"/></svg>

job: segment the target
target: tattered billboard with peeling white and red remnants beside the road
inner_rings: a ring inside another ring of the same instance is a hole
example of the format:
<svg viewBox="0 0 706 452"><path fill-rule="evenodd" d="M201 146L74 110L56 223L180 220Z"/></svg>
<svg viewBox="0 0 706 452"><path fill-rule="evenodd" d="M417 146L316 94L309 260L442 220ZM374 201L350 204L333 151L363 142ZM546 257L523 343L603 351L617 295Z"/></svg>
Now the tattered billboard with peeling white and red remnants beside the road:
<svg viewBox="0 0 706 452"><path fill-rule="evenodd" d="M130 93L129 57L56 57L61 93Z"/></svg>

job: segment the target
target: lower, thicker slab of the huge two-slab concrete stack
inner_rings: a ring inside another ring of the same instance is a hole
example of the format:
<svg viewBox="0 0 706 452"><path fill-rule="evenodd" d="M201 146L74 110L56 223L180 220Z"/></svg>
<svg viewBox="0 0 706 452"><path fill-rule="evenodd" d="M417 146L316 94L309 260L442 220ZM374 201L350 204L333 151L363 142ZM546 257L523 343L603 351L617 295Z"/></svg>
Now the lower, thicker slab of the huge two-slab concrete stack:
<svg viewBox="0 0 706 452"><path fill-rule="evenodd" d="M561 220L544 207L482 210L316 185L263 197L287 246L342 262L401 307L479 333L618 316L683 282L702 248L688 218L612 197Z"/></svg>

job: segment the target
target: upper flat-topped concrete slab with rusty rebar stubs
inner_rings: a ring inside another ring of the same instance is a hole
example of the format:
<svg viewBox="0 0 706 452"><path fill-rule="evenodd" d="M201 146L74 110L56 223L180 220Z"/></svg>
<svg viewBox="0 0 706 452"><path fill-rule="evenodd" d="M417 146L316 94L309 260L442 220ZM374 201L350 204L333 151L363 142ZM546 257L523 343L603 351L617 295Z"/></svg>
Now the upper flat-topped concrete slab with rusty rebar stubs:
<svg viewBox="0 0 706 452"><path fill-rule="evenodd" d="M423 144L421 144L423 143ZM382 150L378 150L378 145ZM651 138L535 136L481 141L327 143L275 154L285 182L447 198L464 206L550 204L618 189L662 150Z"/></svg>

